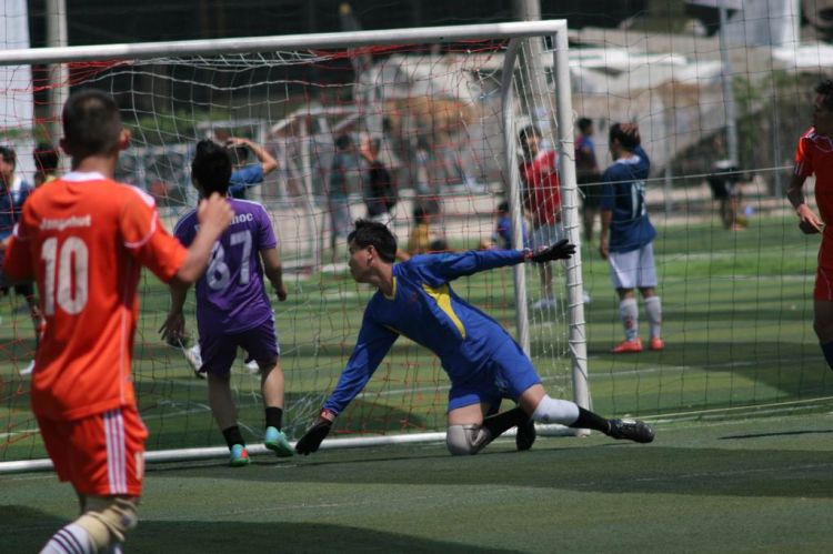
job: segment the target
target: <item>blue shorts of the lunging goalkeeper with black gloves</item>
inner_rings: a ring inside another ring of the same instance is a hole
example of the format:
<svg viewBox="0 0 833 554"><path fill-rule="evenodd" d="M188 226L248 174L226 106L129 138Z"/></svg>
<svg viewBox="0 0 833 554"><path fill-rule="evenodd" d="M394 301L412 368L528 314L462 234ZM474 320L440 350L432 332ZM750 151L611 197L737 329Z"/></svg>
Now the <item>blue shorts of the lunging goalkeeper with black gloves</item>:
<svg viewBox="0 0 833 554"><path fill-rule="evenodd" d="M535 367L512 339L499 344L492 356L465 381L452 382L449 391L449 412L458 407L485 402L493 411L502 399L518 401L532 385L541 383Z"/></svg>

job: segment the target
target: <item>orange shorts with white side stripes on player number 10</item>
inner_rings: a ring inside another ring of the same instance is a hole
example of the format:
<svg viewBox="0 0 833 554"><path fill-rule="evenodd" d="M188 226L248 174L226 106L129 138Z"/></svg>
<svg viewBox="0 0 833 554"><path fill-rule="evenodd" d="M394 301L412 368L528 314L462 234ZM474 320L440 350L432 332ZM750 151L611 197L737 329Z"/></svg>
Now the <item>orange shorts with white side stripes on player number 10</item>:
<svg viewBox="0 0 833 554"><path fill-rule="evenodd" d="M93 496L142 493L148 430L133 406L80 420L38 417L58 479Z"/></svg>

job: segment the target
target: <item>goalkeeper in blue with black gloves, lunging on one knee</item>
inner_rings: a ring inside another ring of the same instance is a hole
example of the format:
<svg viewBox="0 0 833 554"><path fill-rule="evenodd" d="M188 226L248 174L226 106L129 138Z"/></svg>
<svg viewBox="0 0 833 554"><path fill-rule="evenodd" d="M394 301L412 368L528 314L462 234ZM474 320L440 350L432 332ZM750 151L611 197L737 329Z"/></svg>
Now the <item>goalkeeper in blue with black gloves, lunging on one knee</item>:
<svg viewBox="0 0 833 554"><path fill-rule="evenodd" d="M394 265L397 240L385 225L358 220L348 242L351 275L379 291L368 303L359 341L335 391L295 445L299 454L318 451L338 415L364 389L400 335L435 353L451 379L446 445L454 455L476 454L514 426L518 449L528 450L535 440L533 422L591 429L641 443L653 441L653 431L643 422L605 420L573 402L550 397L530 359L500 323L458 296L449 284L526 261L565 260L574 253L574 245L561 241L535 253L488 250L416 255ZM504 397L519 405L498 414Z"/></svg>

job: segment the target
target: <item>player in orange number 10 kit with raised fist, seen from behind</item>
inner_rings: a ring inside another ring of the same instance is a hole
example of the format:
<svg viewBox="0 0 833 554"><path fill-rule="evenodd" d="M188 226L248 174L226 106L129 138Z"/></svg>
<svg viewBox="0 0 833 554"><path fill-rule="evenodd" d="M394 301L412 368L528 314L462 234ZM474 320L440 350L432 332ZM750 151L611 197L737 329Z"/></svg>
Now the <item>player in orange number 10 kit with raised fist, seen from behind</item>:
<svg viewBox="0 0 833 554"><path fill-rule="evenodd" d="M72 171L29 198L3 261L10 279L34 279L47 330L32 375L32 410L61 481L81 516L47 553L121 552L137 524L144 429L130 380L137 285L144 265L164 282L192 283L233 211L218 194L199 208L185 250L144 192L112 180L130 133L112 97L87 90L63 109L63 151Z"/></svg>

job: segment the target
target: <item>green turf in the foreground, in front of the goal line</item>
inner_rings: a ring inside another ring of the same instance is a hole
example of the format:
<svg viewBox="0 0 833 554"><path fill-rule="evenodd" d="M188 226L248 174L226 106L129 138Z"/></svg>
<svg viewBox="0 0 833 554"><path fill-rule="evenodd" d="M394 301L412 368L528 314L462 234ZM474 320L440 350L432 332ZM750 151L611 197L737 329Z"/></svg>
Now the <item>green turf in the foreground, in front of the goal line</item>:
<svg viewBox="0 0 833 554"><path fill-rule="evenodd" d="M498 441L149 467L131 553L822 553L833 417L662 424L650 445ZM0 476L3 552L76 517L52 474Z"/></svg>

